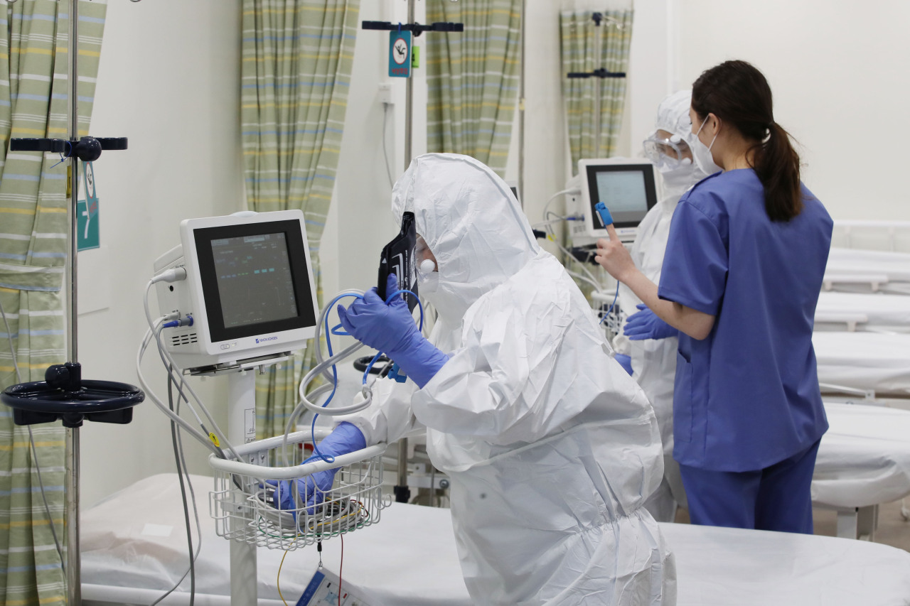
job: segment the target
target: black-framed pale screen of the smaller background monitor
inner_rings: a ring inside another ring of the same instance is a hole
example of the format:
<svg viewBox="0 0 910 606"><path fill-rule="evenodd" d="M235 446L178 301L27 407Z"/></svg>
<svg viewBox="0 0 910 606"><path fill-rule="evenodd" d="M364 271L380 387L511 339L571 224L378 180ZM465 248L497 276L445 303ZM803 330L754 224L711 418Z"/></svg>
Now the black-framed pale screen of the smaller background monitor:
<svg viewBox="0 0 910 606"><path fill-rule="evenodd" d="M598 202L610 209L616 227L638 227L657 203L651 164L589 165L587 171L594 229L605 227L594 208Z"/></svg>

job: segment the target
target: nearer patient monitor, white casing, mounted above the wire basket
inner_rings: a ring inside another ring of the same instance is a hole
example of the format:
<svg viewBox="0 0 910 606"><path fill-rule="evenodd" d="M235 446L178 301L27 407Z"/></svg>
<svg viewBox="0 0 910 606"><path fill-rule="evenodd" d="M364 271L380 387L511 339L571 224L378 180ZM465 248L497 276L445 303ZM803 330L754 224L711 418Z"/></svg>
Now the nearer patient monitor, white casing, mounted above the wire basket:
<svg viewBox="0 0 910 606"><path fill-rule="evenodd" d="M177 365L193 374L244 369L304 348L318 307L303 213L282 210L186 219L180 245L155 262L162 314L191 325L165 328Z"/></svg>

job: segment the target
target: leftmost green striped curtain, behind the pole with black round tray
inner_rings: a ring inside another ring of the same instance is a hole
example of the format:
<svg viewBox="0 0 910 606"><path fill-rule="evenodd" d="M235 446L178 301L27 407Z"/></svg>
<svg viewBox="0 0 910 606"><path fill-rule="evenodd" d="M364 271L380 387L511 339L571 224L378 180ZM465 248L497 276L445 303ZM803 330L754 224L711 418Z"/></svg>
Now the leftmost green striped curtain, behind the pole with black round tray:
<svg viewBox="0 0 910 606"><path fill-rule="evenodd" d="M44 379L66 360L61 288L66 261L66 164L7 153L10 137L66 138L68 3L3 5L0 30L0 387ZM79 135L88 134L105 0L79 3ZM8 324L8 328L7 328ZM35 425L51 517L63 541L64 429ZM28 429L0 407L0 604L66 602L65 575L39 492Z"/></svg>

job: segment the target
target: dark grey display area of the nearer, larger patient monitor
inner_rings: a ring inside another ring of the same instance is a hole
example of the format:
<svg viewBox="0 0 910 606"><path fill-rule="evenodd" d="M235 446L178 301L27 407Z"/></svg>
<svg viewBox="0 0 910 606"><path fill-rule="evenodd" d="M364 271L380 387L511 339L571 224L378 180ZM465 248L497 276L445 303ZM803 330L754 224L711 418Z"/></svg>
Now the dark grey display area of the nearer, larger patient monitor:
<svg viewBox="0 0 910 606"><path fill-rule="evenodd" d="M211 241L225 328L298 315L283 233Z"/></svg>

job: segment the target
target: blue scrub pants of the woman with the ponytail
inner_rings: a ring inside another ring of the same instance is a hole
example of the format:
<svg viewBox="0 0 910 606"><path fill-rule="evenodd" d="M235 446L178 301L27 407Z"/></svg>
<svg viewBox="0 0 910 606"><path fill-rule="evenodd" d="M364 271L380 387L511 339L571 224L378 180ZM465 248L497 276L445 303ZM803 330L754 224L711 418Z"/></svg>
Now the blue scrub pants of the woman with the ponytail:
<svg viewBox="0 0 910 606"><path fill-rule="evenodd" d="M763 470L711 471L680 465L692 523L812 534L809 487L821 441Z"/></svg>

